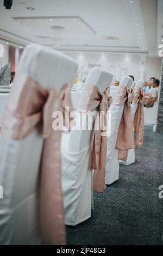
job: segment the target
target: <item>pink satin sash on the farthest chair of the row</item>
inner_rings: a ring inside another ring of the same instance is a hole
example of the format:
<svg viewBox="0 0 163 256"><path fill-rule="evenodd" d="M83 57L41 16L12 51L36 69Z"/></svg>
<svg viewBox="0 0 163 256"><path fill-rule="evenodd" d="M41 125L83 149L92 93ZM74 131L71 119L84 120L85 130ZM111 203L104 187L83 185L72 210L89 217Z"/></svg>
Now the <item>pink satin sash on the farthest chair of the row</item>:
<svg viewBox="0 0 163 256"><path fill-rule="evenodd" d="M135 97L133 104L137 103L137 109L134 118L134 132L136 132L136 145L139 148L143 146L144 137L144 108L143 103L145 102L145 97L143 96L141 88L135 89Z"/></svg>

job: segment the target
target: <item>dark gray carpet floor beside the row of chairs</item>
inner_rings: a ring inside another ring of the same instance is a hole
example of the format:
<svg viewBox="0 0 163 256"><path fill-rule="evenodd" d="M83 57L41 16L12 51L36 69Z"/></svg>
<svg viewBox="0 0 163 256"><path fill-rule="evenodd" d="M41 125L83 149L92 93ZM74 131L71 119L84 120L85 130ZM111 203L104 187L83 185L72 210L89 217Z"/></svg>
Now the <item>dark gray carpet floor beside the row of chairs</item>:
<svg viewBox="0 0 163 256"><path fill-rule="evenodd" d="M163 134L146 127L135 163L120 166L120 179L102 194L94 193L92 217L67 226L67 245L161 245Z"/></svg>

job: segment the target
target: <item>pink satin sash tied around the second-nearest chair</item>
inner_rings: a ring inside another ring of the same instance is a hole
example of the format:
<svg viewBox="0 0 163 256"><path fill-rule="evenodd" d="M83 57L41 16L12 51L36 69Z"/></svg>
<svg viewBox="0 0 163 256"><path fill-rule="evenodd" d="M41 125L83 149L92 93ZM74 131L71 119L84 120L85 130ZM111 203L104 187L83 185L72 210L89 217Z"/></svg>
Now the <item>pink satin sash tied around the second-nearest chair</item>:
<svg viewBox="0 0 163 256"><path fill-rule="evenodd" d="M82 111L92 111L98 107L98 117L95 120L95 126L99 127L97 120L100 120L101 114L101 118L103 119L102 123L107 125L107 115L110 104L111 97L109 96L109 88L106 89L104 93L101 93L96 86L86 84L83 89L82 97L80 98L78 109L82 109ZM103 127L101 127L101 129L93 132L93 145L90 161L90 170L95 169L93 174L93 188L98 193L105 191L107 138L106 131L103 130ZM103 132L105 132L104 136L102 134Z"/></svg>

